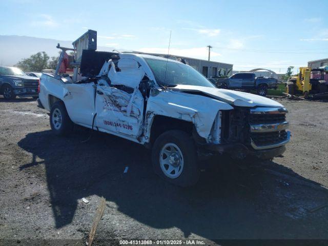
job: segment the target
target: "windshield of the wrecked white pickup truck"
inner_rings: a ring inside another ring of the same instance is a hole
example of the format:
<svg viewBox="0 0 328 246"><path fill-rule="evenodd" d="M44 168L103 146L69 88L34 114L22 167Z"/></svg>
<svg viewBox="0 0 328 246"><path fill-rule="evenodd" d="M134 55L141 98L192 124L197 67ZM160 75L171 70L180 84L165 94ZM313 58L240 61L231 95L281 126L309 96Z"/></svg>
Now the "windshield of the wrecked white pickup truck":
<svg viewBox="0 0 328 246"><path fill-rule="evenodd" d="M206 77L185 64L152 58L145 58L145 60L153 71L159 86L190 85L215 87Z"/></svg>

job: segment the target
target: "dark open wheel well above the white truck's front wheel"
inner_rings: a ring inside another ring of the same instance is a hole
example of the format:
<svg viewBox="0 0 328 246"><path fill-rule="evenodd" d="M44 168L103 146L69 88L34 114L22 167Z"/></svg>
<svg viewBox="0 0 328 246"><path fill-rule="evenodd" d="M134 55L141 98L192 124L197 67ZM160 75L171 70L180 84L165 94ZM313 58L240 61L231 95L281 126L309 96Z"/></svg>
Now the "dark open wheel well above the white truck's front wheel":
<svg viewBox="0 0 328 246"><path fill-rule="evenodd" d="M171 118L168 116L156 115L154 116L151 131L150 131L150 144L154 144L156 138L163 132L169 130L181 130L192 134L194 124L190 121Z"/></svg>

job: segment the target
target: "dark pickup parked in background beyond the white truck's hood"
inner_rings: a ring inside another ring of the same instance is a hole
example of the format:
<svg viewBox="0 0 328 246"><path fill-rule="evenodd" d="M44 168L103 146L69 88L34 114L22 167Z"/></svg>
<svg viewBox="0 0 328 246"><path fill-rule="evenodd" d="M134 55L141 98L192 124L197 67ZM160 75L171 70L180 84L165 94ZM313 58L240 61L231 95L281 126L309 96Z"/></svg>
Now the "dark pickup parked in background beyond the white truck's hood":
<svg viewBox="0 0 328 246"><path fill-rule="evenodd" d="M256 77L255 73L235 73L229 78L216 81L224 89L256 90L260 96L267 95L268 89L277 89L278 80L270 77Z"/></svg>

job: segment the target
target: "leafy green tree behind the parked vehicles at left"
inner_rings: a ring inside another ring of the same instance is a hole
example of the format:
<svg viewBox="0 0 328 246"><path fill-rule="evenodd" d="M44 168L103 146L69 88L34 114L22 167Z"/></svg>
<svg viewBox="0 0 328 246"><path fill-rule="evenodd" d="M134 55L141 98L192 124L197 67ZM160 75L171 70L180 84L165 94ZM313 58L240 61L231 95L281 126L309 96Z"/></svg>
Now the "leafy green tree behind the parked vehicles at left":
<svg viewBox="0 0 328 246"><path fill-rule="evenodd" d="M46 52L37 52L29 58L20 60L15 66L23 71L39 72L48 67L49 55Z"/></svg>

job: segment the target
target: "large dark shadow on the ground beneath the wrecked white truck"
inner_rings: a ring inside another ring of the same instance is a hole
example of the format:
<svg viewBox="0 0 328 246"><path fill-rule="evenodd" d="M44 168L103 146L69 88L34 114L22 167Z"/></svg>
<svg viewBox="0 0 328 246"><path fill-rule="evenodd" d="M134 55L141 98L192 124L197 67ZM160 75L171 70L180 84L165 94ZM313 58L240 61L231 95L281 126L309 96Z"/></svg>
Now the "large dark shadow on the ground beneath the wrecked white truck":
<svg viewBox="0 0 328 246"><path fill-rule="evenodd" d="M208 168L196 187L182 189L153 173L150 152L144 147L101 133L83 142L88 134L77 130L63 138L43 131L29 133L18 142L33 155L32 162L20 170L45 165L56 228L72 222L78 200L98 195L138 222L156 229L176 227L185 237L325 235L320 227L326 223L325 216L306 209L327 202L327 190L274 161L246 166L213 159L204 163ZM44 161L37 162L36 157ZM127 173L125 167L129 167Z"/></svg>

